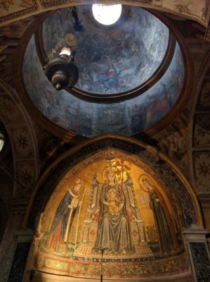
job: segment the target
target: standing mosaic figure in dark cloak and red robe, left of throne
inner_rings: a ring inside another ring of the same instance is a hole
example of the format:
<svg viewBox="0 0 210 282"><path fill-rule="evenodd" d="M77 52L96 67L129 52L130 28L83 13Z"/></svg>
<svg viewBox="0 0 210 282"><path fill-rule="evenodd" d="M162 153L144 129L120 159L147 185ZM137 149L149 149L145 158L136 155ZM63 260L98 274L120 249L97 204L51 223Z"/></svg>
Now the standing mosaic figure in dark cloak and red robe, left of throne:
<svg viewBox="0 0 210 282"><path fill-rule="evenodd" d="M83 183L83 180L80 178L77 179L74 187L67 190L63 200L60 202L58 209L55 212L46 243L46 247L49 250L56 251L58 249L58 244L68 243L70 228L80 204L79 192Z"/></svg>

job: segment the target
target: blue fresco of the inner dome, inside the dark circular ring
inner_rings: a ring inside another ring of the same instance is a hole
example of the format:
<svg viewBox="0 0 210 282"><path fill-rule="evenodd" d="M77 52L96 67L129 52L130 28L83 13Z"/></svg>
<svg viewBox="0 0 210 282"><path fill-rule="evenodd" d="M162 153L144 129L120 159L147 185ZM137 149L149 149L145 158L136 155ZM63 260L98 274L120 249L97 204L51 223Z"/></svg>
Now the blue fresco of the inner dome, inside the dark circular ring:
<svg viewBox="0 0 210 282"><path fill-rule="evenodd" d="M63 47L76 51L76 87L99 94L120 93L141 85L164 59L169 29L142 8L122 6L119 24L96 23L92 6L78 6L83 29L74 32L72 9L57 11L43 23L44 49L58 56ZM150 35L150 36L148 36Z"/></svg>

